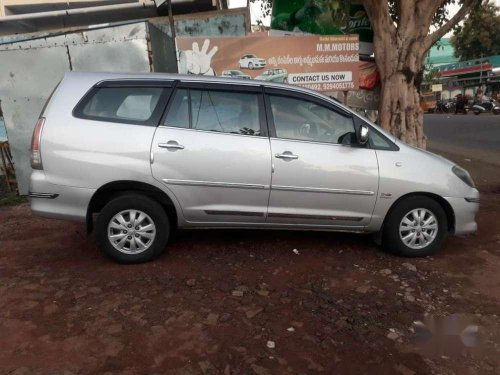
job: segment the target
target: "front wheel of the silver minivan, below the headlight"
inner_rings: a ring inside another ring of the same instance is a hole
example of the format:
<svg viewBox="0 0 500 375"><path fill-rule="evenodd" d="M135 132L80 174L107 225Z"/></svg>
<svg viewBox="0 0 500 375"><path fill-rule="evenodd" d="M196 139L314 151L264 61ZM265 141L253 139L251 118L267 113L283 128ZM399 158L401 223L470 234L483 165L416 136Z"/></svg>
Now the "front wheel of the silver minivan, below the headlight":
<svg viewBox="0 0 500 375"><path fill-rule="evenodd" d="M446 213L438 202L425 196L408 197L390 210L382 247L404 257L423 257L441 248L447 232Z"/></svg>

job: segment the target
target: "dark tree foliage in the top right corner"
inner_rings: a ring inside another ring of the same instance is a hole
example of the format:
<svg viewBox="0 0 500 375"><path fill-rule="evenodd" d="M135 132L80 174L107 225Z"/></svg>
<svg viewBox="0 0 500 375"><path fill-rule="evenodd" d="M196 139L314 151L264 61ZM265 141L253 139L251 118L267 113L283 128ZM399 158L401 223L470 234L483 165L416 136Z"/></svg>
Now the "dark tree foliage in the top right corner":
<svg viewBox="0 0 500 375"><path fill-rule="evenodd" d="M500 7L488 1L479 4L455 28L451 43L460 60L500 55Z"/></svg>

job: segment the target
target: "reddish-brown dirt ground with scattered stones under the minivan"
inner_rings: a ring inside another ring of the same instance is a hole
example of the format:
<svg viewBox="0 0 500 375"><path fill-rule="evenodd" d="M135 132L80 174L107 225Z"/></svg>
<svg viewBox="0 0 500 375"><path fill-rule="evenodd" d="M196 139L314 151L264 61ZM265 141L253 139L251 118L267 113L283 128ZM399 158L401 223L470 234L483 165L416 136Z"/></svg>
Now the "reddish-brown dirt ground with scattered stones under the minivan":
<svg viewBox="0 0 500 375"><path fill-rule="evenodd" d="M479 184L480 229L424 259L369 236L199 231L122 266L83 224L0 209L0 374L498 374L499 170L448 156Z"/></svg>

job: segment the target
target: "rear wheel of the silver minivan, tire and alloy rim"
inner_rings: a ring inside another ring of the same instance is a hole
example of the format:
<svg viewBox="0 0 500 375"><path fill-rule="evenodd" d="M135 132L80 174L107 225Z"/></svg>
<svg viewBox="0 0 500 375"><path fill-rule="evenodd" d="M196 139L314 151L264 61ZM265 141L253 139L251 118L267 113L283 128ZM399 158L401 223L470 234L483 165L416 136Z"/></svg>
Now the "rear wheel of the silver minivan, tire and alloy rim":
<svg viewBox="0 0 500 375"><path fill-rule="evenodd" d="M169 235L170 222L163 207L141 194L126 193L114 198L97 217L99 246L119 263L144 263L154 259L165 250ZM114 244L112 236L116 238Z"/></svg>

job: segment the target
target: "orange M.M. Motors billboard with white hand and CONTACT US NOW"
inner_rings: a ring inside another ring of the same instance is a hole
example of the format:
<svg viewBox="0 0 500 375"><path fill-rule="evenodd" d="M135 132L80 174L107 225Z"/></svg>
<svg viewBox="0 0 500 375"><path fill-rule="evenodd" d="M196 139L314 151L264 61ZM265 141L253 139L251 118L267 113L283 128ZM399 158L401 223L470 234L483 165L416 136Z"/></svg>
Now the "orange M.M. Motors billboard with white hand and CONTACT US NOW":
<svg viewBox="0 0 500 375"><path fill-rule="evenodd" d="M359 87L358 35L176 38L178 71L299 85Z"/></svg>

